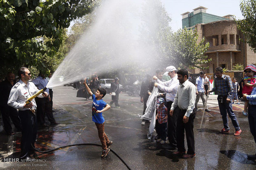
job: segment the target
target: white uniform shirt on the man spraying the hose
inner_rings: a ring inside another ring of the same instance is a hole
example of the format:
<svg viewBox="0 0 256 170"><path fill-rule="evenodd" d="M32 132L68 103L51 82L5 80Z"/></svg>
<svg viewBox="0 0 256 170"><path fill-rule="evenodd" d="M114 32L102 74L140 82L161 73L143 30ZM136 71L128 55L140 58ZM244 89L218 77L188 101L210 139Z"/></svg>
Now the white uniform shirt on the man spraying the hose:
<svg viewBox="0 0 256 170"><path fill-rule="evenodd" d="M29 110L29 108L24 108L25 101L38 91L34 83L28 81L26 85L23 81L19 80L18 83L12 87L7 104L19 110ZM44 96L43 94L39 94L38 97L43 98ZM35 99L33 99L31 103L33 103L33 108L36 109Z"/></svg>

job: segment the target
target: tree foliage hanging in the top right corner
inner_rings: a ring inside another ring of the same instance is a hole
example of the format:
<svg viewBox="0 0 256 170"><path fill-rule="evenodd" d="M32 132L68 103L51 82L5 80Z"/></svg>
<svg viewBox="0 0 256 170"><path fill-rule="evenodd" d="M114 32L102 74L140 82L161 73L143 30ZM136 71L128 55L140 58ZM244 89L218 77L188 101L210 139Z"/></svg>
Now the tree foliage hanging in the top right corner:
<svg viewBox="0 0 256 170"><path fill-rule="evenodd" d="M244 19L235 19L237 28L244 34L245 41L256 53L256 0L242 0L240 9Z"/></svg>

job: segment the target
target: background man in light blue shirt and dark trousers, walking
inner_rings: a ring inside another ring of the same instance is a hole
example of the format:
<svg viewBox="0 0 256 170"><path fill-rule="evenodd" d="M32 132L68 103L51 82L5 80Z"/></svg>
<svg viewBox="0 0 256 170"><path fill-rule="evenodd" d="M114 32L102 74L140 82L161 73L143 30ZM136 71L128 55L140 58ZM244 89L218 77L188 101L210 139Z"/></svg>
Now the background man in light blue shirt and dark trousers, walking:
<svg viewBox="0 0 256 170"><path fill-rule="evenodd" d="M196 87L197 87L197 92L196 92L197 98L196 98L196 103L195 103L195 109L197 111L199 111L197 109L197 103L198 103L200 97L203 101L204 107L206 106L206 97L205 97L206 91L204 89L204 71L200 71L200 76L196 79ZM207 111L211 111L211 110L209 110L206 106L205 111L207 112Z"/></svg>

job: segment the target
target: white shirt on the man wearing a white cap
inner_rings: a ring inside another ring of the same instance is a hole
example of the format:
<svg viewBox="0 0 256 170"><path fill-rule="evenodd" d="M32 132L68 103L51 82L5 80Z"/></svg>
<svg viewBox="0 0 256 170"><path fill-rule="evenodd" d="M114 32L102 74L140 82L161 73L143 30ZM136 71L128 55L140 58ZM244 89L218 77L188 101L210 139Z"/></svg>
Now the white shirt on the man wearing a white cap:
<svg viewBox="0 0 256 170"><path fill-rule="evenodd" d="M176 75L166 82L162 82L159 79L157 79L156 82L159 83L157 87L166 92L166 101L174 101L179 86L178 76Z"/></svg>

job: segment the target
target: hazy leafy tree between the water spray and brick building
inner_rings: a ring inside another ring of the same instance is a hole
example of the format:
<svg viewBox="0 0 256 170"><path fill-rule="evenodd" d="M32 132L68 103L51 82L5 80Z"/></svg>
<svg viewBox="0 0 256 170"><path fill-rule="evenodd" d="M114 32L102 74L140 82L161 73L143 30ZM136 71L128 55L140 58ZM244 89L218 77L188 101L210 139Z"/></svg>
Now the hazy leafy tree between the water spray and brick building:
<svg viewBox="0 0 256 170"><path fill-rule="evenodd" d="M204 37L198 42L197 30L178 30L172 36L172 56L173 62L181 68L207 69L207 64L211 59L207 59L205 52L209 47L209 42L204 42Z"/></svg>

